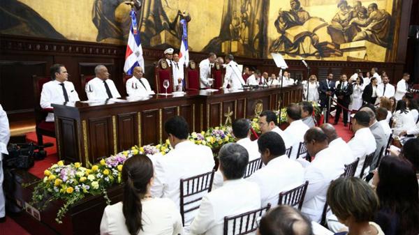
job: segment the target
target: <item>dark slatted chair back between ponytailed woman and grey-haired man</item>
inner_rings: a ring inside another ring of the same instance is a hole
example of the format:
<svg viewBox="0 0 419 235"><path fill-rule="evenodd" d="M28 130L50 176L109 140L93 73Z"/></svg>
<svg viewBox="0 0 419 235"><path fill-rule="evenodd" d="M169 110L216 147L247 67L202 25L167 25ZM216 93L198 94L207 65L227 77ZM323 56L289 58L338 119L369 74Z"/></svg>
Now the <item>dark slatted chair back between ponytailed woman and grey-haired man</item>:
<svg viewBox="0 0 419 235"><path fill-rule="evenodd" d="M214 181L214 170L187 179L180 179L180 215L182 224L185 224L185 213L195 211L203 199L203 192L211 192ZM189 200L190 199L190 200Z"/></svg>

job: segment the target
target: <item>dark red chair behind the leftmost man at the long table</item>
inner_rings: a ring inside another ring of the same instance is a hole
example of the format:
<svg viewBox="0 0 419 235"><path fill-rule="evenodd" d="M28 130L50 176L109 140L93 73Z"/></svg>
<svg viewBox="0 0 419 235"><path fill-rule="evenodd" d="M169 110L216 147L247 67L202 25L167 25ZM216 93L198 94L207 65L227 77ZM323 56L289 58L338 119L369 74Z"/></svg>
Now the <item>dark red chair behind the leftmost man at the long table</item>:
<svg viewBox="0 0 419 235"><path fill-rule="evenodd" d="M50 77L38 77L36 75L32 75L33 82L34 82L34 96L35 96L35 131L36 131L36 138L38 139L38 145L43 145L43 135L54 137L55 138L55 126L53 121L45 121L45 118L49 112L54 112L51 109L43 109L41 108L41 92L43 88L43 84L50 82Z"/></svg>

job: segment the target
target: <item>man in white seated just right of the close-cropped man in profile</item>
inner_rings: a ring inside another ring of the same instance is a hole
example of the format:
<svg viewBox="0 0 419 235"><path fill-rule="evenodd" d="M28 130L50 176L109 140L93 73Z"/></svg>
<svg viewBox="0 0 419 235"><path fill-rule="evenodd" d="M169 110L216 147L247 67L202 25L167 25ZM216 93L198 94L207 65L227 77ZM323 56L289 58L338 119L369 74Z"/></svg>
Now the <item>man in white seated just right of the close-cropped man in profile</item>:
<svg viewBox="0 0 419 235"><path fill-rule="evenodd" d="M335 153L339 153L339 156L341 156L344 164L348 165L355 161L351 148L341 137L337 135L336 129L332 126L332 124L324 123L320 128L328 136L329 148L333 149Z"/></svg>

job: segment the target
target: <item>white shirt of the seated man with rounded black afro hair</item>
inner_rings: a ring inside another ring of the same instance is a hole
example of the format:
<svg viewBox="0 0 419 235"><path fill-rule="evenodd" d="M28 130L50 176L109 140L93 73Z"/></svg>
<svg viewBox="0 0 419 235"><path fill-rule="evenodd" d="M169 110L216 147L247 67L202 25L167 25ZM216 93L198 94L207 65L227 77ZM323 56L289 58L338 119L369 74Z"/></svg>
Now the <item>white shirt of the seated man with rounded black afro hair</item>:
<svg viewBox="0 0 419 235"><path fill-rule="evenodd" d="M267 162L267 165L258 169L248 179L257 183L260 188L260 205L268 203L272 207L278 204L280 192L285 192L304 183L304 168L295 160L283 155Z"/></svg>

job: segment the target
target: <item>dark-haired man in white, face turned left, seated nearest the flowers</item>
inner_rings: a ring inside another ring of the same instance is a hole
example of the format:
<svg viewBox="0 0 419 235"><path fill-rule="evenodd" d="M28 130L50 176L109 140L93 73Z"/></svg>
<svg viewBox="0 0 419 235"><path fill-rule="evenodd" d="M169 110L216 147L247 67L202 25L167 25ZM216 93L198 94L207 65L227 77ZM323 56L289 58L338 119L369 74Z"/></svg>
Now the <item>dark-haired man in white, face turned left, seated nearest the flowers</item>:
<svg viewBox="0 0 419 235"><path fill-rule="evenodd" d="M293 137L286 135L283 130L279 129L277 114L270 110L265 110L260 113L259 129L262 134L269 131L277 132L284 140L286 149L289 149L293 143Z"/></svg>

